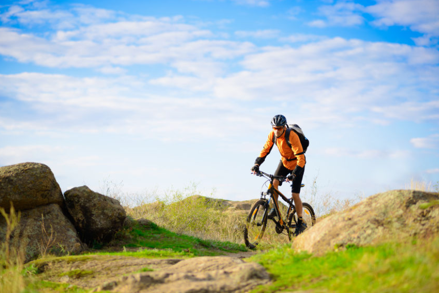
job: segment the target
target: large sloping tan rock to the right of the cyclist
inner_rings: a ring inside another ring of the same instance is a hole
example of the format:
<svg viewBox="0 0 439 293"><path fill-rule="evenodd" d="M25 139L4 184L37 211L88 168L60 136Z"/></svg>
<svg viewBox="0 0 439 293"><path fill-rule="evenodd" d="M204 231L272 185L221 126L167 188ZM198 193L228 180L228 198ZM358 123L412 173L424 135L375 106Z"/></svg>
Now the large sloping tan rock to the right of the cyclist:
<svg viewBox="0 0 439 293"><path fill-rule="evenodd" d="M439 232L439 193L392 190L328 216L294 239L293 249L323 254L347 245L366 246Z"/></svg>

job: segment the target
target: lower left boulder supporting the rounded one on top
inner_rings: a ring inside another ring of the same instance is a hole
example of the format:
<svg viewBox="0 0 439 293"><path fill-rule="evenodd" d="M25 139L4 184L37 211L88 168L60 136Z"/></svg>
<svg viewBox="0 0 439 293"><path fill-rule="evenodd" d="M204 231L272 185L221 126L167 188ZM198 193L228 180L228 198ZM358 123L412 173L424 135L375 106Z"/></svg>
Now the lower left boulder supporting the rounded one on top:
<svg viewBox="0 0 439 293"><path fill-rule="evenodd" d="M45 254L79 253L84 246L73 224L57 204L21 211L20 222L12 233L10 248L29 261ZM6 238L7 222L0 216L0 242Z"/></svg>

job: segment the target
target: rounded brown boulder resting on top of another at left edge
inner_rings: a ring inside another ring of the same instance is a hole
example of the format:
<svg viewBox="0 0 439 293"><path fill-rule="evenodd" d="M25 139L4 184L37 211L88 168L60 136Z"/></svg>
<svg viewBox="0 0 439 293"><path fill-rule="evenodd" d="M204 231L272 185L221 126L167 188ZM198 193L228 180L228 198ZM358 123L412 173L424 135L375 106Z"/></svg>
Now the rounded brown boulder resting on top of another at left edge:
<svg viewBox="0 0 439 293"><path fill-rule="evenodd" d="M0 207L6 211L39 206L63 206L63 194L51 169L40 163L20 163L0 167Z"/></svg>

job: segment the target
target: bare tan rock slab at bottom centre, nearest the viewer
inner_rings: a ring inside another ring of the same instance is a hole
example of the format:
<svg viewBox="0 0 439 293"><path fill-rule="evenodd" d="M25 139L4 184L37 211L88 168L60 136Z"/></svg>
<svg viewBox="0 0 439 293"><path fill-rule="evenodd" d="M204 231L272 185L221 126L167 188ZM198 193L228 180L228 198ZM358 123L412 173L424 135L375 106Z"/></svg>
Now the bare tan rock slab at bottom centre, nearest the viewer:
<svg viewBox="0 0 439 293"><path fill-rule="evenodd" d="M97 290L119 293L245 292L268 283L270 276L259 264L233 257L197 257L165 270L123 276Z"/></svg>

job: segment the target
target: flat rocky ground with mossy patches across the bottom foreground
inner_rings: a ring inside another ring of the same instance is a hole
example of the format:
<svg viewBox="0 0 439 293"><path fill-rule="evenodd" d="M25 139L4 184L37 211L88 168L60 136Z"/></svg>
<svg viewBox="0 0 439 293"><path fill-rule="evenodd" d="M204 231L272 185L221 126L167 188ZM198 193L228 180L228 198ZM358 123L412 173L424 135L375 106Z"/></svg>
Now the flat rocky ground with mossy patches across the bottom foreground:
<svg viewBox="0 0 439 293"><path fill-rule="evenodd" d="M35 262L41 280L94 291L240 292L270 282L264 267L245 258L255 252L190 259L84 255Z"/></svg>

